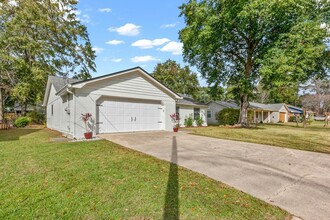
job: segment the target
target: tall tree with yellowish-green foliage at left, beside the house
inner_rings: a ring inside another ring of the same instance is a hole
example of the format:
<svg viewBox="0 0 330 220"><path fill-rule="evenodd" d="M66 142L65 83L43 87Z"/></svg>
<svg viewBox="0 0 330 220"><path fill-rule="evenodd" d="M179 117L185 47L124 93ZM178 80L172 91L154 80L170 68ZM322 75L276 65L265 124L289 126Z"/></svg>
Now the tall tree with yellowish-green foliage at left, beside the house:
<svg viewBox="0 0 330 220"><path fill-rule="evenodd" d="M76 0L0 4L0 85L7 85L22 110L42 99L48 75L87 79L95 71L95 54L86 27L76 17L76 4Z"/></svg>

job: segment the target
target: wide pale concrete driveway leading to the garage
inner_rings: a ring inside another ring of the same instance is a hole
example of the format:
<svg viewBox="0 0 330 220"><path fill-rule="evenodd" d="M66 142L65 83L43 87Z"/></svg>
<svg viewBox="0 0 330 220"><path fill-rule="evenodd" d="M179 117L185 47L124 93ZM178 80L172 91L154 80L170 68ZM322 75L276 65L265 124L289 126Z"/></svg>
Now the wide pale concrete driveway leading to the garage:
<svg viewBox="0 0 330 220"><path fill-rule="evenodd" d="M231 185L303 219L330 219L330 155L185 132L99 135ZM267 138L267 137L265 137ZM176 147L175 157L172 148Z"/></svg>

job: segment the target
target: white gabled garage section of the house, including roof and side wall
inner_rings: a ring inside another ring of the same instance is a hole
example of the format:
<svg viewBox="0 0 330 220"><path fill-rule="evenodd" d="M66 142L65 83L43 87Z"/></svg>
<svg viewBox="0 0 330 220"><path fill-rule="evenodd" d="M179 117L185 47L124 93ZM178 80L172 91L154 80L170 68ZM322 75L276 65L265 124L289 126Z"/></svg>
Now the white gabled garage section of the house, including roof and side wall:
<svg viewBox="0 0 330 220"><path fill-rule="evenodd" d="M50 76L43 105L47 107L48 128L83 138L86 131L81 114L85 113L92 114L94 135L171 131L169 115L176 111L176 101L180 99L181 96L136 67L85 81Z"/></svg>

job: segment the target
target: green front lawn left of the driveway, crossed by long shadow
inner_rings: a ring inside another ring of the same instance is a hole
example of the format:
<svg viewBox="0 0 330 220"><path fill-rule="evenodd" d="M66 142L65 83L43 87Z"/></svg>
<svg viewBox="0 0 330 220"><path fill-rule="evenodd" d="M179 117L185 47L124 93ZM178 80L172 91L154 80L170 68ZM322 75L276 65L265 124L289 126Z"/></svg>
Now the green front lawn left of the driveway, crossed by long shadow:
<svg viewBox="0 0 330 220"><path fill-rule="evenodd" d="M0 131L0 219L290 219L250 195L108 141Z"/></svg>

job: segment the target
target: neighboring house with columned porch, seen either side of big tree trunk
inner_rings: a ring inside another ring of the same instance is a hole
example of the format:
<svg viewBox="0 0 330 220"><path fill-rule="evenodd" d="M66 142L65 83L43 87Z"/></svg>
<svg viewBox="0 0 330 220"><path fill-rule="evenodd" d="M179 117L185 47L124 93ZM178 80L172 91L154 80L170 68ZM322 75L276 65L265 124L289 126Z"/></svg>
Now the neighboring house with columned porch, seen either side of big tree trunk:
<svg viewBox="0 0 330 220"><path fill-rule="evenodd" d="M254 123L288 122L289 109L285 103L262 104L250 102L249 104L249 110L253 111ZM216 114L224 108L239 109L239 106L232 101L212 101L208 103L208 106L208 124L217 124Z"/></svg>

